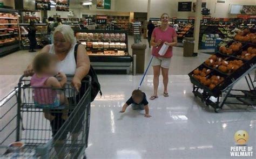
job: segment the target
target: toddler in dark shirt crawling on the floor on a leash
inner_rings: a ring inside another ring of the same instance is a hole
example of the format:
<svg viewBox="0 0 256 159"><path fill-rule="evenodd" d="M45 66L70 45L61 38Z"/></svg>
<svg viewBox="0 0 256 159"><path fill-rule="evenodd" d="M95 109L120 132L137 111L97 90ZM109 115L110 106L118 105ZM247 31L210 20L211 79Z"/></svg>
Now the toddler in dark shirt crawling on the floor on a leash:
<svg viewBox="0 0 256 159"><path fill-rule="evenodd" d="M147 102L146 94L141 90L137 89L132 92L132 96L127 102L124 104L122 111L120 113L124 113L126 108L132 104L133 110L145 110L145 117L150 118L149 114L149 102Z"/></svg>

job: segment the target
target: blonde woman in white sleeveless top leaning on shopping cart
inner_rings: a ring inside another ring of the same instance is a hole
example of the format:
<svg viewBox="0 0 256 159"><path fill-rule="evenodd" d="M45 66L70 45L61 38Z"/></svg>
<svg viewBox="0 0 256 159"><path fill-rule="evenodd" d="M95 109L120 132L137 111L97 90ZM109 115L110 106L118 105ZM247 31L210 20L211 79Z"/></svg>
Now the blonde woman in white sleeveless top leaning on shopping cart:
<svg viewBox="0 0 256 159"><path fill-rule="evenodd" d="M46 45L40 53L50 53L55 54L58 59L58 71L73 75L71 85L79 91L81 87L82 79L88 74L90 69L89 56L86 54L85 47L78 45L77 47L77 57L75 60L75 46L77 45L76 38L72 28L68 25L58 25L53 32L53 44ZM77 62L76 62L77 61ZM32 69L32 64L24 71L24 75L32 76L34 74ZM82 90L81 90L82 92ZM79 97L76 96L76 103L79 102ZM73 101L73 97L69 99L69 102ZM72 103L70 103L72 104ZM55 136L58 130L62 127L65 120L62 119L61 110L52 110L51 115L55 118L50 122L52 128L52 136ZM83 111L79 110L76 113L76 117L71 121L70 131L72 132L72 140L76 141L81 128L83 126ZM59 138L59 143L63 144L68 131L63 132L61 136L56 136ZM57 144L56 144L57 145ZM56 151L60 152L59 147L56 147ZM63 154L60 153L58 158L64 158Z"/></svg>

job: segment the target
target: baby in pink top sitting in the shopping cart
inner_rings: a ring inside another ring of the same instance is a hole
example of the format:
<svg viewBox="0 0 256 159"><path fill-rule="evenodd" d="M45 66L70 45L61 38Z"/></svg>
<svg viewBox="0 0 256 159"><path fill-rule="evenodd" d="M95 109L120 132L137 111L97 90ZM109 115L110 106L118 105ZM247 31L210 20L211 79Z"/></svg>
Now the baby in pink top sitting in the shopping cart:
<svg viewBox="0 0 256 159"><path fill-rule="evenodd" d="M57 57L54 54L38 54L32 65L35 74L32 76L30 84L33 87L35 107L43 109L44 117L52 121L55 116L50 113L50 110L69 103L62 90L67 82L66 75L58 73ZM61 78L61 81L58 81L56 77ZM66 107L62 110L62 119L68 119Z"/></svg>

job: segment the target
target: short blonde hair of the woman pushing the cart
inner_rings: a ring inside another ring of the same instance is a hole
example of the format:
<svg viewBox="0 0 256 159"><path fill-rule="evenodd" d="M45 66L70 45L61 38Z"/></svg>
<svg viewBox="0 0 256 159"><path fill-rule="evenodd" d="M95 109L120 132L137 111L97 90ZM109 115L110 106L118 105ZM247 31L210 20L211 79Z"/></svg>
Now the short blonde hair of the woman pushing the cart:
<svg viewBox="0 0 256 159"><path fill-rule="evenodd" d="M64 25L64 24L58 25L53 32L53 37L58 32L63 34L63 37L66 40L66 42L69 42L70 44L74 44L76 42L74 31L72 30L72 28L69 25ZM53 41L54 41L54 39L53 39Z"/></svg>

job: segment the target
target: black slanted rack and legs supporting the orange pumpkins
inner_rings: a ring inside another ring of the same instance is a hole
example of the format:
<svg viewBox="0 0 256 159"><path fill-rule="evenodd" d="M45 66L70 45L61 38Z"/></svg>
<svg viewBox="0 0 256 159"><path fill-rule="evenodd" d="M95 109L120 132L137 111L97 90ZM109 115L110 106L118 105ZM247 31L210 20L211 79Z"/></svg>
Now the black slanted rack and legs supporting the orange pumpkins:
<svg viewBox="0 0 256 159"><path fill-rule="evenodd" d="M255 44L249 43L245 44L243 48L247 48L247 46L253 46L256 48ZM242 51L242 49L232 55L223 55L220 53L216 53L215 55L226 56L226 58L229 60L242 60L236 56ZM251 60L243 60L243 62L244 64L239 69L230 74L225 74L218 69L208 67L205 63L201 64L198 67L199 70L202 68L211 70L211 73L206 77L217 75L224 77L224 81L219 83L217 86L215 86L214 89L211 90L200 81L198 81L198 79L193 76L193 71L191 71L188 76L190 76L190 81L193 84L194 96L199 97L201 101L204 102L207 106L212 106L215 112L219 112L221 109L223 109L225 104L255 106L256 79L253 81L250 73L256 68L256 56L254 56ZM234 85L238 83L242 78L246 79L248 90L233 89ZM214 100L212 100L212 98Z"/></svg>

